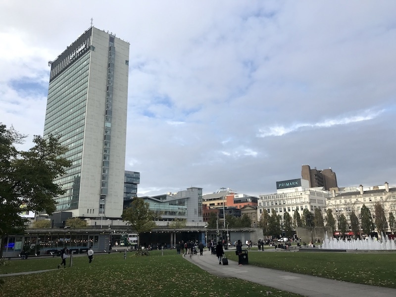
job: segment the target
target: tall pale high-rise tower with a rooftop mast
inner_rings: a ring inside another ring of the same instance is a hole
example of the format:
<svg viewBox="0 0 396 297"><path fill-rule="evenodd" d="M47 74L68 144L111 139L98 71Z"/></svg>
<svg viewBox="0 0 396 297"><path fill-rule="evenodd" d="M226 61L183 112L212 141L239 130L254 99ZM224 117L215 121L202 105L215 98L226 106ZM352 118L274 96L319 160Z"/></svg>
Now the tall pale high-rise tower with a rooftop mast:
<svg viewBox="0 0 396 297"><path fill-rule="evenodd" d="M90 27L51 66L44 137L61 135L73 161L55 182L57 211L120 217L123 209L129 43Z"/></svg>

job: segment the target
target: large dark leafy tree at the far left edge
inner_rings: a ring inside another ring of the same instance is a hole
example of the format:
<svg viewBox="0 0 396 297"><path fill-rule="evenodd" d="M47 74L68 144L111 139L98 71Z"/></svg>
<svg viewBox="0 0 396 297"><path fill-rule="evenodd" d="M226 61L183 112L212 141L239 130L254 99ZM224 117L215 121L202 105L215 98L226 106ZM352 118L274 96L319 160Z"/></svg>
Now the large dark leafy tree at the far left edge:
<svg viewBox="0 0 396 297"><path fill-rule="evenodd" d="M33 148L18 151L15 144L25 137L0 124L0 254L5 236L24 231L27 219L20 216L22 212L55 211L54 198L65 191L53 181L71 166L63 157L68 148L60 144L60 136L36 135Z"/></svg>

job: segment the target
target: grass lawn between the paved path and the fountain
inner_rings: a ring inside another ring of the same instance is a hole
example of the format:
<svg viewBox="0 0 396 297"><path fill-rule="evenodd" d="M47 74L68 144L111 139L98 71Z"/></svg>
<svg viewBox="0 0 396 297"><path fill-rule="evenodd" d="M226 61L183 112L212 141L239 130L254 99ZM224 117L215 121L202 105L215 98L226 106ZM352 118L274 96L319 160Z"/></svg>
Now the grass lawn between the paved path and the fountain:
<svg viewBox="0 0 396 297"><path fill-rule="evenodd" d="M234 252L230 260L238 261ZM396 288L396 253L248 251L250 265L329 279Z"/></svg>

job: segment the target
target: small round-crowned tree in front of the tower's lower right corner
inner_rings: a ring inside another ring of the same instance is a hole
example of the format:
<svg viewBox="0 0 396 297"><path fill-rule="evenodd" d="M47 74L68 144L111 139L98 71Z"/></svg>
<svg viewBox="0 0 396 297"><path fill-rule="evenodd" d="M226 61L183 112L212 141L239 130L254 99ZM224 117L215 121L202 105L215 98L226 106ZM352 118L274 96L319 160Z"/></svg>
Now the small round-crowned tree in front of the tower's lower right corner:
<svg viewBox="0 0 396 297"><path fill-rule="evenodd" d="M149 232L156 226L154 219L157 215L150 210L150 205L142 198L135 197L132 200L131 206L125 208L121 218L128 222L132 229L138 233L138 246L140 246L140 234Z"/></svg>

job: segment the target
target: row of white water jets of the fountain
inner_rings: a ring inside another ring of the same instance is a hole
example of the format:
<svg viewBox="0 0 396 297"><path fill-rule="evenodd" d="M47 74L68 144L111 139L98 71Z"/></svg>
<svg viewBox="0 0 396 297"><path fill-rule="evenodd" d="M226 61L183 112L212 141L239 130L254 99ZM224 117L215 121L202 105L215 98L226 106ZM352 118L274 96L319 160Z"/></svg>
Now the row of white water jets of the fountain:
<svg viewBox="0 0 396 297"><path fill-rule="evenodd" d="M359 249L359 250L396 250L396 243L393 240L388 239L388 236L382 235L381 238L384 240L377 240L376 238L367 237L363 240L351 239L351 240L339 240L336 238L328 238L327 232L323 240L322 246L319 248L323 249Z"/></svg>

